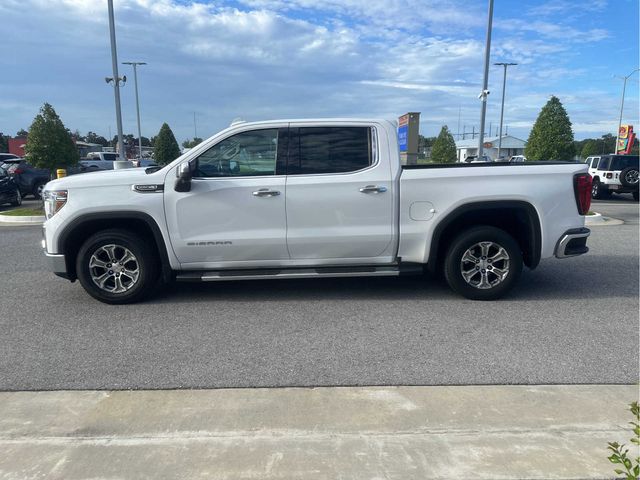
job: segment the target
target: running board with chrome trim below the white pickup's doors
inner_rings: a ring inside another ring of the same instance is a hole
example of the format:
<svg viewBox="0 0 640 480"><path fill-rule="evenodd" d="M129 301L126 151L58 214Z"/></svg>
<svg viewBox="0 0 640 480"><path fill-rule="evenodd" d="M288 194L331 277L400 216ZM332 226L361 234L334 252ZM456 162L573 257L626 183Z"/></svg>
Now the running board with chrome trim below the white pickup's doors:
<svg viewBox="0 0 640 480"><path fill-rule="evenodd" d="M392 265L364 267L265 268L260 270L183 271L176 276L179 282L220 282L229 280L279 280L288 278L337 277L397 277L419 275L422 265Z"/></svg>

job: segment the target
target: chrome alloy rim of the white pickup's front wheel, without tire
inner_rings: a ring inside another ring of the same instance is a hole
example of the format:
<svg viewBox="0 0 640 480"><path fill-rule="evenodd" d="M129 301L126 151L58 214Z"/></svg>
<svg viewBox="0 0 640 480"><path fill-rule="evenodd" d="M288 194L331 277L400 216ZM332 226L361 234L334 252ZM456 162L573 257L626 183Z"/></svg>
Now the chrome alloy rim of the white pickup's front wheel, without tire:
<svg viewBox="0 0 640 480"><path fill-rule="evenodd" d="M140 277L140 264L131 250L122 245L103 245L89 259L91 279L109 293L124 293Z"/></svg>

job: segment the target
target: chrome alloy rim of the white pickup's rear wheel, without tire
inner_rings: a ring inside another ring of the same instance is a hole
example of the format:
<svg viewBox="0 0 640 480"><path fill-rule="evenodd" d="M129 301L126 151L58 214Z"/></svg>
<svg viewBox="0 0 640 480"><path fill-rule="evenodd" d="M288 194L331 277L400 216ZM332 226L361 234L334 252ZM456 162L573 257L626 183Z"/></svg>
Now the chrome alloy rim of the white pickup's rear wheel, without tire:
<svg viewBox="0 0 640 480"><path fill-rule="evenodd" d="M509 254L494 242L469 247L460 260L462 278L481 290L493 288L509 275Z"/></svg>

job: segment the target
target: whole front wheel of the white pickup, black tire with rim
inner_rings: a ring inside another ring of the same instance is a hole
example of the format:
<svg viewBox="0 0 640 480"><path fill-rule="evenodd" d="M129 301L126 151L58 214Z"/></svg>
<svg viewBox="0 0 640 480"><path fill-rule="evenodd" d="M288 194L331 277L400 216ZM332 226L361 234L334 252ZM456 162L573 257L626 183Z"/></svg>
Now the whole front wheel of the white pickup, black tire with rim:
<svg viewBox="0 0 640 480"><path fill-rule="evenodd" d="M110 229L96 233L82 244L78 252L78 280L89 295L101 302L139 302L151 293L159 277L157 255L148 250L148 245L148 241L129 230ZM133 260L124 261L129 258L126 250ZM94 265L90 266L92 257ZM122 263L112 264L114 259L122 260ZM98 265L98 262L103 262L103 265ZM136 270L137 276L134 275ZM101 279L104 279L102 287L98 284Z"/></svg>

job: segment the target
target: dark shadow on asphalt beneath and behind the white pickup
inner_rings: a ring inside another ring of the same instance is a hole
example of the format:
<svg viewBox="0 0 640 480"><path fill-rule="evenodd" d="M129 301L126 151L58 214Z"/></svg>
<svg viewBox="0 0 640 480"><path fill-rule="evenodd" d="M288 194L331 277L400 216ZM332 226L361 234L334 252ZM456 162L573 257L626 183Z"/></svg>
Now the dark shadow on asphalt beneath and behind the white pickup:
<svg viewBox="0 0 640 480"><path fill-rule="evenodd" d="M544 260L526 269L508 301L637 297L638 258L598 255ZM312 300L466 300L438 275L172 283L148 303Z"/></svg>

